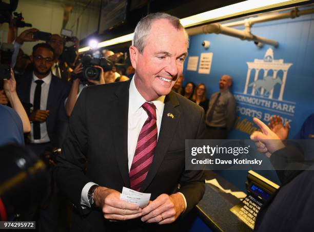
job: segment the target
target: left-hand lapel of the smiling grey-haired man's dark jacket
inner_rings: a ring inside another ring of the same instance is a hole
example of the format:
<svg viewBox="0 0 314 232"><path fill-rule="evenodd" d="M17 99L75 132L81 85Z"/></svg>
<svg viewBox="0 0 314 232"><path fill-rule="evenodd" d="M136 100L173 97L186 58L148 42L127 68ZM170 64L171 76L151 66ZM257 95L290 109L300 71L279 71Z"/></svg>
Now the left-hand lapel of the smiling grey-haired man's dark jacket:
<svg viewBox="0 0 314 232"><path fill-rule="evenodd" d="M130 80L121 84L115 92L116 99L111 103L111 131L115 146L115 157L120 168L124 186L130 187L128 167L128 111Z"/></svg>

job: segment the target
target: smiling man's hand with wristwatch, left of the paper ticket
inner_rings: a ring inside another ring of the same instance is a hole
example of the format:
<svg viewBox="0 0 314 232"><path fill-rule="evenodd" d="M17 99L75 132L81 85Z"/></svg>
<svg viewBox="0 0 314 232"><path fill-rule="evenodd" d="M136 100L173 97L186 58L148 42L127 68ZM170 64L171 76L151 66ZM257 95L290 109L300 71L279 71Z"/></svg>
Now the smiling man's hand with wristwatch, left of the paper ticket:
<svg viewBox="0 0 314 232"><path fill-rule="evenodd" d="M142 216L139 205L120 200L120 193L111 188L96 187L94 202L102 208L104 217L109 220L125 221Z"/></svg>

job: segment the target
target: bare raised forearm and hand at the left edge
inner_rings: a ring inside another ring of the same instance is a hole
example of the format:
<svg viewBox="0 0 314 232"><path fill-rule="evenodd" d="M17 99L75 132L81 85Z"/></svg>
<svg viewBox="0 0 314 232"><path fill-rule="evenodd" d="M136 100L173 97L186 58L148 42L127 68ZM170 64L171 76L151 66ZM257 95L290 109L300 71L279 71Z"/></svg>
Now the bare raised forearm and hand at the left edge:
<svg viewBox="0 0 314 232"><path fill-rule="evenodd" d="M23 132L28 133L31 130L30 122L26 111L23 108L21 101L16 93L16 81L13 70L11 69L11 78L4 79L3 90L0 91L0 103L11 104L11 107L16 111L23 123Z"/></svg>

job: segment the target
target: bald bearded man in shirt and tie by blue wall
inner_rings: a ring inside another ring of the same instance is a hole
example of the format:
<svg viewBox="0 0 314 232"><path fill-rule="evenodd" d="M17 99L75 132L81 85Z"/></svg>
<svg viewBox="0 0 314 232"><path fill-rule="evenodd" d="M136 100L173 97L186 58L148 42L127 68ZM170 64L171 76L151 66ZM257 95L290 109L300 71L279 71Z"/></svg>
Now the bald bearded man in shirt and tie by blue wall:
<svg viewBox="0 0 314 232"><path fill-rule="evenodd" d="M235 99L229 88L232 78L223 75L219 81L219 92L211 95L206 113L205 139L226 139L235 120Z"/></svg>

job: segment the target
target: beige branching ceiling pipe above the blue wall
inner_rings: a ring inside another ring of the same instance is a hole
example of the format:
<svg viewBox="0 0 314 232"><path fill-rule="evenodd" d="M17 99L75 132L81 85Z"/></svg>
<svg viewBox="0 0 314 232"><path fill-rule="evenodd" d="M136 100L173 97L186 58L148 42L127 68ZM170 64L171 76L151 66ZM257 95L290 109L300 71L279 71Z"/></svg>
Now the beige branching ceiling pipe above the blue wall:
<svg viewBox="0 0 314 232"><path fill-rule="evenodd" d="M277 20L282 18L295 18L304 14L314 13L314 9L299 11L298 8L292 10L288 13L281 13L277 15L266 15L259 16L256 18L249 18L245 20L241 20L239 22L229 23L229 24L209 24L200 27L194 27L187 29L189 35L197 35L201 33L215 33L215 34L224 34L233 37L240 38L242 40L255 41L261 44L268 44L273 47L278 47L279 43L276 40L268 39L262 36L254 35L251 33L251 26L256 23L262 23L270 20ZM230 28L231 26L239 26L244 25L245 30L238 30L234 28Z"/></svg>

